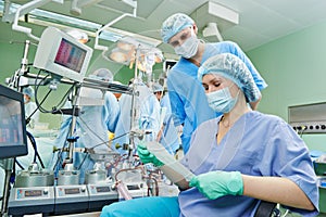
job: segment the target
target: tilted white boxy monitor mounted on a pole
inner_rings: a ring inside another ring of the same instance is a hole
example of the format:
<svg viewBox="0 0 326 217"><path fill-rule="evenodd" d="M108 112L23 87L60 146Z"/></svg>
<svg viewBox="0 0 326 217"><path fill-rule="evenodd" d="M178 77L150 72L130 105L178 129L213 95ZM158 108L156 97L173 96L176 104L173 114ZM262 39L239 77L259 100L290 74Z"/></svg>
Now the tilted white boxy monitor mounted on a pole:
<svg viewBox="0 0 326 217"><path fill-rule="evenodd" d="M40 37L34 67L82 82L91 55L91 48L50 26L43 30Z"/></svg>

